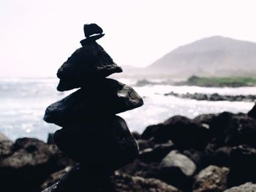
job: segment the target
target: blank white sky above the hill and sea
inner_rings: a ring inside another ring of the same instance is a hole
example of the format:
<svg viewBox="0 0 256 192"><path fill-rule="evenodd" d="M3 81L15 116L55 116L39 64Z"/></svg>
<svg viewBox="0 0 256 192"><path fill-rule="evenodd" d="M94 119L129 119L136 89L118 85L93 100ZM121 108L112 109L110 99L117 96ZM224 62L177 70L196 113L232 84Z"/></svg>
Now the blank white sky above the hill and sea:
<svg viewBox="0 0 256 192"><path fill-rule="evenodd" d="M0 77L53 77L97 23L118 65L146 66L222 35L256 42L255 0L0 0Z"/></svg>

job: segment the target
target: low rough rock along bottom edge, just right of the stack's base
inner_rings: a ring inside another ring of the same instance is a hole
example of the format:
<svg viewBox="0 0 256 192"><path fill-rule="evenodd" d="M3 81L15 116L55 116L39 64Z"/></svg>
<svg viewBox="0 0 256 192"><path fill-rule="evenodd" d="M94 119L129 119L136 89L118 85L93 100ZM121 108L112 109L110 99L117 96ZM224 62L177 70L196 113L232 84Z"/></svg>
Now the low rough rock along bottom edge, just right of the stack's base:
<svg viewBox="0 0 256 192"><path fill-rule="evenodd" d="M177 188L154 178L132 177L116 173L117 192L179 192Z"/></svg>

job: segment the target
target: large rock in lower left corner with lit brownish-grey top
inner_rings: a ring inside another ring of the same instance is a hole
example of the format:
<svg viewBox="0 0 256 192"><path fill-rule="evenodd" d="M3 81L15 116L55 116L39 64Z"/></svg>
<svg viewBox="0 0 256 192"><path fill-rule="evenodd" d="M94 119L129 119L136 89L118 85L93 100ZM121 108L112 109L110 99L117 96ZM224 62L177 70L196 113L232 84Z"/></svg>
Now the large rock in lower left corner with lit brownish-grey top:
<svg viewBox="0 0 256 192"><path fill-rule="evenodd" d="M1 190L37 191L48 174L56 171L55 165L53 153L44 142L17 139L12 155L0 161Z"/></svg>

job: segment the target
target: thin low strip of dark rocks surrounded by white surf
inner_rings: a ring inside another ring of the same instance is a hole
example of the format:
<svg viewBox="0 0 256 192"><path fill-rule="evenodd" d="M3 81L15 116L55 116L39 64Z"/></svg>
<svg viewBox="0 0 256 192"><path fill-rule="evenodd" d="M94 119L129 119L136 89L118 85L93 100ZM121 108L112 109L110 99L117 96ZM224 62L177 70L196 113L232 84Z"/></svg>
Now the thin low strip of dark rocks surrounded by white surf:
<svg viewBox="0 0 256 192"><path fill-rule="evenodd" d="M206 93L165 93L165 96L176 96L183 99L195 99L198 101L246 101L246 102L255 102L255 95L238 95L238 96L229 96L229 95L219 95L218 93L206 94Z"/></svg>

